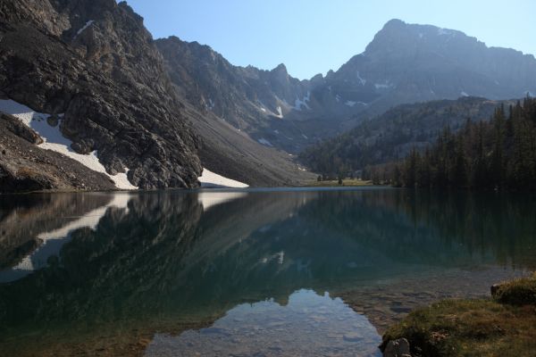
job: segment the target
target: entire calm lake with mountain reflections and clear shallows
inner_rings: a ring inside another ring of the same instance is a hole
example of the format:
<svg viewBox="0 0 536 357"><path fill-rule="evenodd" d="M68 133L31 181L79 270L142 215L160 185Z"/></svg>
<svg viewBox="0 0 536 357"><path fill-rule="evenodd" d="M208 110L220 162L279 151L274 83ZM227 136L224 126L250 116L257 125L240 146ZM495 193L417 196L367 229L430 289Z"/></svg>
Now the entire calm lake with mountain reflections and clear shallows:
<svg viewBox="0 0 536 357"><path fill-rule="evenodd" d="M412 308L535 266L527 195L0 195L0 355L380 356Z"/></svg>

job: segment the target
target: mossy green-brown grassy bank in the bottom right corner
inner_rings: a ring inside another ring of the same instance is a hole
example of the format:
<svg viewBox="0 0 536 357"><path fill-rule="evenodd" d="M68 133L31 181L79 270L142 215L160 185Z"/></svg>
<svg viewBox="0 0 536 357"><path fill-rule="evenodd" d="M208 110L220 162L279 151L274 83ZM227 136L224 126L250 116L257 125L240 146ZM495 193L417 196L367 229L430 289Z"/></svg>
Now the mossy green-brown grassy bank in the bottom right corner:
<svg viewBox="0 0 536 357"><path fill-rule="evenodd" d="M406 337L413 356L534 356L535 286L536 276L517 279L493 299L446 300L412 311L388 329L383 346Z"/></svg>

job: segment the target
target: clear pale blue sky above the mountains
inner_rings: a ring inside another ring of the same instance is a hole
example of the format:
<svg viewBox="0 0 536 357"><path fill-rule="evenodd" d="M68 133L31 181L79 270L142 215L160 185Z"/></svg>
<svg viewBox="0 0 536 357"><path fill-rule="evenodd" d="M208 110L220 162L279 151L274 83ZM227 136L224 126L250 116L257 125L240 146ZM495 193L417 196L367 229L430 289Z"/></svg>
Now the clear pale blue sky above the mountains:
<svg viewBox="0 0 536 357"><path fill-rule="evenodd" d="M232 64L299 79L337 70L390 19L459 29L536 54L534 0L130 0L155 38L209 45Z"/></svg>

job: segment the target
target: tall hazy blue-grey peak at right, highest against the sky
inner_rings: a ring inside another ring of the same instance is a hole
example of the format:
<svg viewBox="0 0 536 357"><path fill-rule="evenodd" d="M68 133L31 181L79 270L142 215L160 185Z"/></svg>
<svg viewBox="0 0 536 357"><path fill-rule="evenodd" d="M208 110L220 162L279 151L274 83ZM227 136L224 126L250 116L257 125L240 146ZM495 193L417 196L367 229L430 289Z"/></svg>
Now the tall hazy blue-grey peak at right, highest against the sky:
<svg viewBox="0 0 536 357"><path fill-rule="evenodd" d="M328 74L325 85L372 113L468 95L519 98L536 92L536 60L460 31L391 20L363 54Z"/></svg>

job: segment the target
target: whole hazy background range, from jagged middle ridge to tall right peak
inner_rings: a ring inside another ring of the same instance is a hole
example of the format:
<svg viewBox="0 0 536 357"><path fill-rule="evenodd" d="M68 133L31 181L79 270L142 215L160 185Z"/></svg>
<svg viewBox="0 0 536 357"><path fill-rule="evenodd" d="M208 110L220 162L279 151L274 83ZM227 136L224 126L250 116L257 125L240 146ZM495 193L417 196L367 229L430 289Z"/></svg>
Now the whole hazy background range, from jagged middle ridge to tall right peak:
<svg viewBox="0 0 536 357"><path fill-rule="evenodd" d="M156 41L181 95L264 145L290 153L398 104L460 96L492 100L536 93L536 60L430 25L389 21L363 54L310 80L237 67L209 46Z"/></svg>

